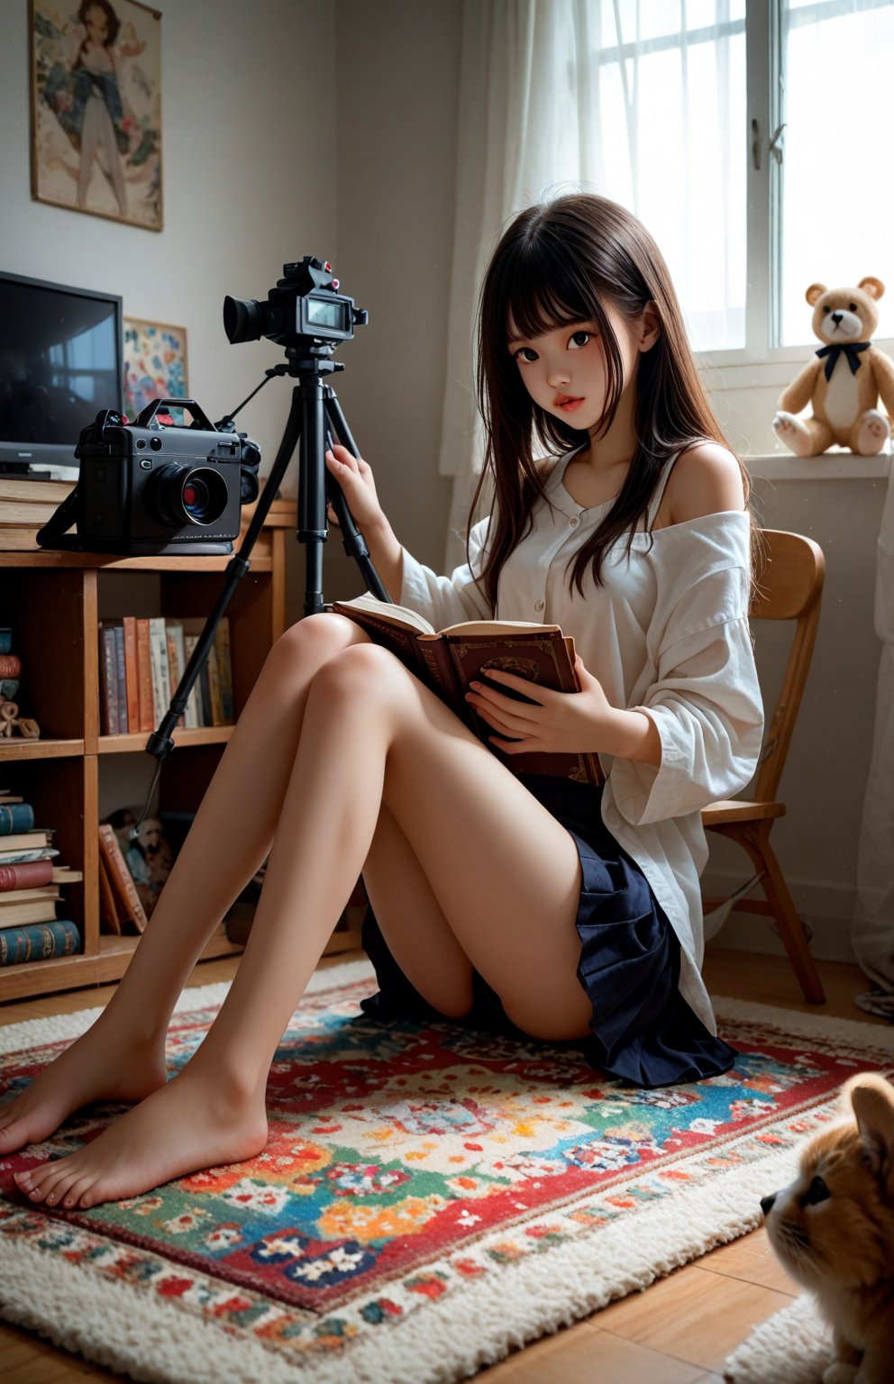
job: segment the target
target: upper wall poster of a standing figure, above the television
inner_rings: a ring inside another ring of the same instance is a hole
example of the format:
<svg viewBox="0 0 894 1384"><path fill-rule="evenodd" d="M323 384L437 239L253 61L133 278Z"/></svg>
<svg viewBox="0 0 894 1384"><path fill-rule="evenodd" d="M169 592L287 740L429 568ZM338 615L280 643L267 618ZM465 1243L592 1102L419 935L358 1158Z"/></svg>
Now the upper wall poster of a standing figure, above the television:
<svg viewBox="0 0 894 1384"><path fill-rule="evenodd" d="M29 0L37 202L161 231L161 19L138 0Z"/></svg>

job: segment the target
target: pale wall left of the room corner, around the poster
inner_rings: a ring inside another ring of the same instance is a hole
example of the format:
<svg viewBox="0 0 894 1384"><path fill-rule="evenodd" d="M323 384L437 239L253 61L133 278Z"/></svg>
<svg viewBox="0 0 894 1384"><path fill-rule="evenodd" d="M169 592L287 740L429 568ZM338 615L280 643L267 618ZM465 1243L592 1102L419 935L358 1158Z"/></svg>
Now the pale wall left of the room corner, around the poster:
<svg viewBox="0 0 894 1384"><path fill-rule="evenodd" d="M224 295L266 298L285 260L317 246L335 255L332 7L162 6L161 233L32 201L28 4L0 8L0 264L119 293L125 314L185 327L190 390L219 418L282 358L268 342L228 345ZM289 397L275 379L237 419L262 444L262 471Z"/></svg>

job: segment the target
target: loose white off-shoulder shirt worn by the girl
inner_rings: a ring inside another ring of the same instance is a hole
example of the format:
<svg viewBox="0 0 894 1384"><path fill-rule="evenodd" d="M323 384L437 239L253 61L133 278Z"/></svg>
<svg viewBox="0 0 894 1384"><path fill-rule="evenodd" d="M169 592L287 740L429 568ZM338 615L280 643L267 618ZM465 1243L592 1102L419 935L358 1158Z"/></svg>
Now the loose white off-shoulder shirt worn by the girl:
<svg viewBox="0 0 894 1384"><path fill-rule="evenodd" d="M500 573L494 619L559 624L613 706L644 711L657 727L662 764L601 754L602 819L637 861L681 943L679 990L715 1032L702 980L704 954L699 876L707 862L700 810L750 781L764 728L749 631L750 520L745 511L711 513L652 530L662 493L642 531L608 552L603 585L590 569L583 597L569 590L569 559L613 501L584 509L562 483L573 451L545 482L533 527ZM471 566L437 576L404 549L400 603L435 628L491 619L476 587L489 520L469 534ZM598 746L581 746L596 749Z"/></svg>

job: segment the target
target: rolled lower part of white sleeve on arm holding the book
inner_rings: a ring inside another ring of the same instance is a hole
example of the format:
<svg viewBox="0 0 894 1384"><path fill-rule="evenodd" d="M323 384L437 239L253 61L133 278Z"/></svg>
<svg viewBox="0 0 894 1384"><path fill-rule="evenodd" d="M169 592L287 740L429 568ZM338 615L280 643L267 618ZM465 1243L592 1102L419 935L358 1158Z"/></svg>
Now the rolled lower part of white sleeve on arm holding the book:
<svg viewBox="0 0 894 1384"><path fill-rule="evenodd" d="M764 707L747 619L691 632L668 645L659 677L631 707L655 724L660 765L616 758L612 786L632 826L697 812L750 781L761 750Z"/></svg>

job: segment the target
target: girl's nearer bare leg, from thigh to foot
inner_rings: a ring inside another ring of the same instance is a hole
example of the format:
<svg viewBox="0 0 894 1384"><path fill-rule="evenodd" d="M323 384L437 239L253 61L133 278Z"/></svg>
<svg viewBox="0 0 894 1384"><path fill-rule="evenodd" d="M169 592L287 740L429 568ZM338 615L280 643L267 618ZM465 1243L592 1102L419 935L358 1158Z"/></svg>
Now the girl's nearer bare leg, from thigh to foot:
<svg viewBox="0 0 894 1384"><path fill-rule="evenodd" d="M585 1034L572 837L396 659L346 649L313 681L255 925L205 1042L97 1140L24 1174L35 1201L137 1196L263 1149L270 1063L367 859L382 801L509 1016L542 1038Z"/></svg>

